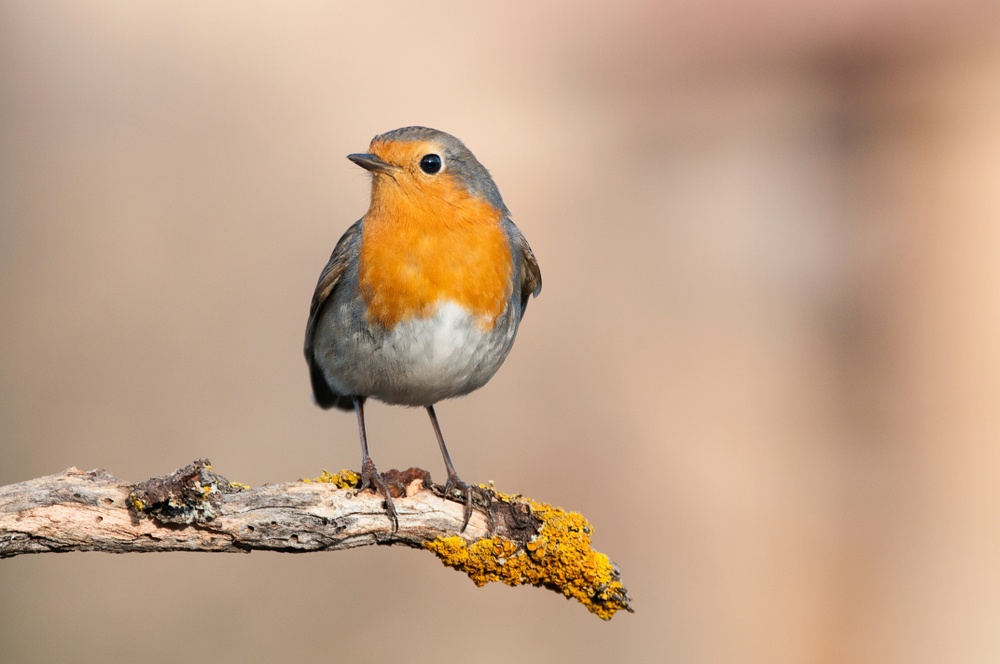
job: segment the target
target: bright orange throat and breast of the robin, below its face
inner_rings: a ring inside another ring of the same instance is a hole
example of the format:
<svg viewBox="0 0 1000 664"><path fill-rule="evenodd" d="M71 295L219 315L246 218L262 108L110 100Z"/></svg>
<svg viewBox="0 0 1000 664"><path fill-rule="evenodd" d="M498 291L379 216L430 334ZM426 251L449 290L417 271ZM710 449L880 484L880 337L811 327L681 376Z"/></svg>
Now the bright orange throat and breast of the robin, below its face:
<svg viewBox="0 0 1000 664"><path fill-rule="evenodd" d="M513 287L500 214L446 174L419 188L376 178L359 259L369 321L389 328L431 316L437 303L448 299L489 329Z"/></svg>

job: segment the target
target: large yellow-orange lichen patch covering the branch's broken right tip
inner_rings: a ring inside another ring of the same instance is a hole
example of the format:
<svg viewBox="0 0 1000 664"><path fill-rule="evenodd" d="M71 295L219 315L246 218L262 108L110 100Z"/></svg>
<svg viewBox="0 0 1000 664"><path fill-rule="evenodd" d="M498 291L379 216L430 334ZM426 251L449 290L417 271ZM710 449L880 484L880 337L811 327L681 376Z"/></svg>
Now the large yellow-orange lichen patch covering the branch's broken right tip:
<svg viewBox="0 0 1000 664"><path fill-rule="evenodd" d="M458 536L442 537L424 546L445 565L468 574L477 586L491 581L544 586L576 599L604 620L621 609L631 611L614 563L591 548L592 528L583 516L491 490L497 500L527 504L541 521L538 535L523 548L499 536L471 544Z"/></svg>

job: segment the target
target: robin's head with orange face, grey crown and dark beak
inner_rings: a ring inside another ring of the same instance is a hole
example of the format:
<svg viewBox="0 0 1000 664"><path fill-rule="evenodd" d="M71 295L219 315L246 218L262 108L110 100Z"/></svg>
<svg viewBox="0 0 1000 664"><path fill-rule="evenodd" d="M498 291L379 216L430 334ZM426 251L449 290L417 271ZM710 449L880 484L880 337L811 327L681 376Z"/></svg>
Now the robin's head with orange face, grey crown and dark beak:
<svg viewBox="0 0 1000 664"><path fill-rule="evenodd" d="M376 136L368 150L347 158L371 172L373 202L383 187L391 187L394 194L409 198L482 198L508 214L489 171L451 134L427 127L403 127Z"/></svg>

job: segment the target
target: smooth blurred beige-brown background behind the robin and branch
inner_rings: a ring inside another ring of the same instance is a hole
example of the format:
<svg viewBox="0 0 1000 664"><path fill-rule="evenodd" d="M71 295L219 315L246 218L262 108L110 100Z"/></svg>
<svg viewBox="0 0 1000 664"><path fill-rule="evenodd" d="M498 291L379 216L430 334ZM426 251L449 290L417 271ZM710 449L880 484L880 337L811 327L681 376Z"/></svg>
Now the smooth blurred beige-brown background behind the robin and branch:
<svg viewBox="0 0 1000 664"><path fill-rule="evenodd" d="M1000 5L0 4L0 484L357 468L312 401L344 156L423 124L545 288L455 462L636 613L428 554L0 561L4 662L1000 661ZM381 468L440 457L373 404Z"/></svg>

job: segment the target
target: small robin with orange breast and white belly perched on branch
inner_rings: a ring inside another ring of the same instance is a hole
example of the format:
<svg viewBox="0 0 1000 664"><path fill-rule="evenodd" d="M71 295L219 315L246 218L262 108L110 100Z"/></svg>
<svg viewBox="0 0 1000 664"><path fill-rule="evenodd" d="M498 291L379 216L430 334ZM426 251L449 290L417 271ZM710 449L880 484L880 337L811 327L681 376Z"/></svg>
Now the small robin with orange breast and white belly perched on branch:
<svg viewBox="0 0 1000 664"><path fill-rule="evenodd" d="M503 364L529 297L541 292L538 261L489 171L458 138L403 127L347 158L371 174L371 203L313 293L305 335L313 396L321 408L354 411L357 491L381 494L393 533L399 518L368 451L364 405L424 408L445 495L464 495L464 531L482 489L459 478L434 406L482 387Z"/></svg>

